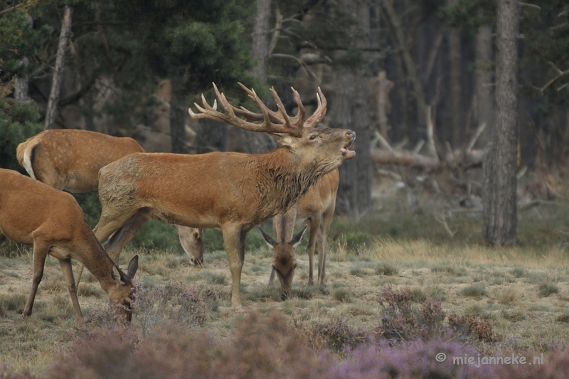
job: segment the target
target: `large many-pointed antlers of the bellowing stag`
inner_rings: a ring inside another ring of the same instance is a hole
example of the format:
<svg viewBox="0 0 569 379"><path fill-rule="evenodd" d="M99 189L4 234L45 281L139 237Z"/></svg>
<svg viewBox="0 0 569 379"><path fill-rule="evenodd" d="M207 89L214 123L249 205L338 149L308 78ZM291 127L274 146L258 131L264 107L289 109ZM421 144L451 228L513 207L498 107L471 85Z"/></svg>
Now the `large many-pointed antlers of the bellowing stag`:
<svg viewBox="0 0 569 379"><path fill-rule="evenodd" d="M261 113L251 112L247 110L245 107L236 108L225 98L223 93L220 93L216 84L213 83L213 89L216 91L216 95L218 97L219 102L223 106L225 113L219 112L216 109L217 102L213 103L213 107L211 107L208 102L206 102L206 98L201 95L201 100L203 102L203 107L200 107L196 103L196 107L201 113L194 113L192 110L188 110L191 117L193 118L208 118L208 119L215 119L218 122L223 122L225 124L234 125L236 127L240 127L242 129L251 130L253 132L273 132L273 133L286 133L291 134L294 137L302 136L302 128L303 127L313 127L314 125L318 124L321 119L326 114L326 99L322 92L319 90L318 96L318 109L317 112L304 122L304 117L306 116L306 112L304 111L304 106L300 100L300 95L294 88L292 91L294 92L294 100L297 102L298 105L298 114L294 117L290 117L287 112L285 111L285 106L282 105L282 101L280 100L279 95L275 91L275 88L271 88L271 92L273 97L275 97L275 102L277 102L278 112L270 110L265 103L263 103L255 90L249 89L245 87L245 85L239 83L239 85L248 93L249 97L255 101L257 107L261 110ZM324 102L321 102L320 97L324 98ZM239 118L235 113L238 113L245 117L245 119ZM252 121L262 121L262 124L254 123Z"/></svg>

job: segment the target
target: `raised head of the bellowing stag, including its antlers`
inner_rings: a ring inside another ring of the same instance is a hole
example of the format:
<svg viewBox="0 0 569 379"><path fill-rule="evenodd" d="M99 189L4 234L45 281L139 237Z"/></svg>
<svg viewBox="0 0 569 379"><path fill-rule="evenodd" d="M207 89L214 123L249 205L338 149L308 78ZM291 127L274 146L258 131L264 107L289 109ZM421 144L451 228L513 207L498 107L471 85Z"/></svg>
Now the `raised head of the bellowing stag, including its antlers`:
<svg viewBox="0 0 569 379"><path fill-rule="evenodd" d="M211 106L202 95L203 107L196 104L201 113L193 113L190 109L188 111L191 117L215 119L218 122L235 125L252 132L267 132L281 146L289 146L290 152L298 156L300 164L312 164L319 169L321 174L333 171L345 159L351 159L356 155L355 151L350 150L353 140L356 139L355 132L347 129L317 127L326 115L327 105L326 97L320 88L318 88L317 93L318 108L312 116L306 119L304 105L302 105L299 93L294 88L292 91L294 92L294 100L297 102L298 113L292 117L285 111L285 106L282 105L274 88L271 88L271 91L277 103L277 111L270 110L259 99L254 90L248 89L241 83L239 85L255 101L261 111L260 113L250 112L244 107L233 107L214 83L213 88L225 112L217 110L217 100ZM245 119L238 117L238 114Z"/></svg>

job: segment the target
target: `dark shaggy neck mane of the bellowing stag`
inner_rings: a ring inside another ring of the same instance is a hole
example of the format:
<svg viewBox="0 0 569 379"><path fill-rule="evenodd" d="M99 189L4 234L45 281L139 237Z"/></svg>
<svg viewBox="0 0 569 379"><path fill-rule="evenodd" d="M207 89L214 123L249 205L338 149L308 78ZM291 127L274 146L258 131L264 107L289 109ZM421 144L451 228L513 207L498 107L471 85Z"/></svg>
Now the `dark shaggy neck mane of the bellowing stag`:
<svg viewBox="0 0 569 379"><path fill-rule="evenodd" d="M326 166L302 159L288 146L255 156L258 167L257 191L268 217L285 213L324 175Z"/></svg>

